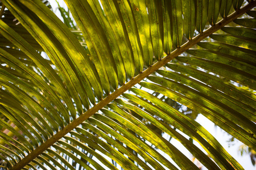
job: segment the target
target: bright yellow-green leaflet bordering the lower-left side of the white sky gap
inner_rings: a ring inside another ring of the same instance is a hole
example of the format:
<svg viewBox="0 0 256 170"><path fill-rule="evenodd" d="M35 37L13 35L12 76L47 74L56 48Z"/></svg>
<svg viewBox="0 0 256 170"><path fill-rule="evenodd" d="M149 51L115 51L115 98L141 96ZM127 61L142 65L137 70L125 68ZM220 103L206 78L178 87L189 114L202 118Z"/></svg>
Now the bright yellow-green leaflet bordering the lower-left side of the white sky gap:
<svg viewBox="0 0 256 170"><path fill-rule="evenodd" d="M141 83L142 84L142 83ZM147 84L147 83L144 83ZM143 85L144 85L143 84ZM164 104L162 101L160 101L158 98L148 94L147 92L143 92L142 90L138 90L133 88L132 89L133 92L135 92L137 95L140 95L142 97L144 97L145 99L149 99L152 103L154 103L156 105L156 109L158 109L158 107L160 107L160 109L163 109L163 112L159 112L159 111L154 111L154 114L157 114L159 117L163 117L165 120L170 121L170 124L173 125L174 127L176 127L177 129L183 131L183 133L185 134L193 134L193 138L195 136L194 139L197 142L202 143L202 147L205 148L205 150L208 149L212 149L209 146L209 143L205 143L205 139L202 140L202 138L207 138L207 141L210 140L212 142L210 142L210 145L213 145L212 147L214 147L216 150L222 150L220 151L212 151L212 152L208 152L208 154L211 155L212 158L215 158L215 161L218 162L218 165L222 166L228 166L230 167L230 164L228 162L226 162L226 160L224 160L224 158L222 156L225 156L225 158L228 158L229 161L232 161L234 164L236 164L237 167L241 167L240 164L236 163L236 160L234 160L225 150L224 148L222 148L222 146L216 141L216 139L214 139L212 137L212 135L210 135L208 133L208 131L206 131L203 127L201 127L199 124L197 124L195 121L192 121L190 118L188 118L187 116L185 116L183 113L180 113L178 111L176 111L174 108L168 106L167 104ZM128 95L125 94L124 95L127 99L133 99L131 96L133 95ZM140 105L143 104L142 100L136 101L139 102ZM151 110L152 111L152 106L150 105L142 105L144 108L146 108L147 110ZM192 124L193 122L193 124ZM188 132L189 131L189 132ZM196 135L195 133L199 133L200 135ZM204 145L208 145L207 147ZM222 154L222 156L215 156L212 154ZM225 153L225 154L223 154ZM239 168L237 168L239 169Z"/></svg>

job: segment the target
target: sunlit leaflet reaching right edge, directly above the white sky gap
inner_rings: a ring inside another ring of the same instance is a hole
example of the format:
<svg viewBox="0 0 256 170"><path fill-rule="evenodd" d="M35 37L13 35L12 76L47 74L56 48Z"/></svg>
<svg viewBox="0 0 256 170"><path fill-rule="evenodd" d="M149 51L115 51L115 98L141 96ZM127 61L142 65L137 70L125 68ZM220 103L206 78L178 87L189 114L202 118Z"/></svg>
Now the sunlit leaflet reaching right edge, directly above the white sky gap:
<svg viewBox="0 0 256 170"><path fill-rule="evenodd" d="M155 76L150 76L149 79L152 82L163 84L164 87L170 88L171 90L177 91L180 94L186 96L188 104L191 102L195 103L197 106L201 108L205 108L205 110L209 109L210 112L215 112L216 114L214 117L219 118L223 122L230 122L229 120L233 120L229 123L230 126L236 127L235 124L241 126L240 129L242 133L246 134L247 136L253 135L255 133L255 125L252 121L250 121L247 117L243 116L242 114L236 112L236 110L226 107L225 105L221 104L217 100L212 99L212 97L201 94L196 90L193 90L189 87L184 86L183 84L174 82L172 80L164 79L164 78L157 78ZM179 87L179 88L176 88ZM170 91L171 93L173 91ZM174 96L179 96L174 92ZM199 97L200 96L200 97ZM179 99L174 99L179 100ZM189 102L190 101L190 102ZM184 101L179 101L180 103L186 105ZM228 123L225 123L228 124ZM234 128L236 129L236 128ZM238 128L237 128L238 129ZM247 133L245 132L247 131ZM254 140L253 137L251 140Z"/></svg>

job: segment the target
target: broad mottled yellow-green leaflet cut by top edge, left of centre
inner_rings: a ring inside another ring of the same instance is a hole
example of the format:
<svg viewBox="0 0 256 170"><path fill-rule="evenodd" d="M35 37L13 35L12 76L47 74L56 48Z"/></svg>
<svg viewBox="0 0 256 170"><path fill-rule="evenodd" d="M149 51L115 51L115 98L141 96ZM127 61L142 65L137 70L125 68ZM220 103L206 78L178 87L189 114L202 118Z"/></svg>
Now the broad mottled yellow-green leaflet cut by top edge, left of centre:
<svg viewBox="0 0 256 170"><path fill-rule="evenodd" d="M77 13L74 15L74 18L83 32L86 45L88 46L90 55L96 65L97 73L100 76L101 84L108 94L110 92L109 83L116 89L118 86L118 79L116 66L114 65L114 59L110 52L106 35L88 2L66 2L72 12L75 11L75 8L77 10L76 12L73 12L74 14ZM98 46L96 46L96 44L98 44Z"/></svg>

